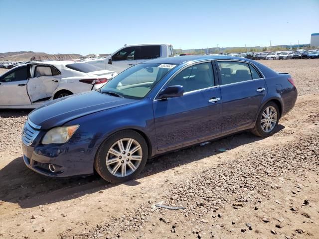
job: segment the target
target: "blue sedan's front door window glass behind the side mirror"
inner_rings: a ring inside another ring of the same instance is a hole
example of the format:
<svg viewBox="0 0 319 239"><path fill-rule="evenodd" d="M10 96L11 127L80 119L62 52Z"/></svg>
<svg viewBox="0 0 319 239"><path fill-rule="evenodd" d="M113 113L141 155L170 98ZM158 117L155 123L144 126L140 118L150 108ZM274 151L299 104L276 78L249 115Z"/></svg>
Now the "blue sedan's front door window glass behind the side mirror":
<svg viewBox="0 0 319 239"><path fill-rule="evenodd" d="M214 86L211 62L190 66L179 72L167 86L183 86L184 92L205 89Z"/></svg>

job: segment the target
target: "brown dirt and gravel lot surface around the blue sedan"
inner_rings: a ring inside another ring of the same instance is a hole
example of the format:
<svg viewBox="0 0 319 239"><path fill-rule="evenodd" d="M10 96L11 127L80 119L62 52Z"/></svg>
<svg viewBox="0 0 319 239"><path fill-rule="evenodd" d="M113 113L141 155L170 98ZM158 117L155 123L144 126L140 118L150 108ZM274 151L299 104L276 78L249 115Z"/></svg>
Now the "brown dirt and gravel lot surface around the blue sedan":
<svg viewBox="0 0 319 239"><path fill-rule="evenodd" d="M0 239L318 238L319 60L261 62L290 73L299 91L275 135L243 132L170 153L121 185L33 173L20 150L29 112L2 110Z"/></svg>

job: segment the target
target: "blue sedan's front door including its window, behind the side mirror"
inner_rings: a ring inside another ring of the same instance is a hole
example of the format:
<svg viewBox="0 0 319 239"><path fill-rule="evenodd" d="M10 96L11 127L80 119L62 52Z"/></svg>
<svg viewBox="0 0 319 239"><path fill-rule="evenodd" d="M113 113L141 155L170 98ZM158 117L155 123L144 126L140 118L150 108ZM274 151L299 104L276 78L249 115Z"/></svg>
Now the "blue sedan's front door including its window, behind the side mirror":
<svg viewBox="0 0 319 239"><path fill-rule="evenodd" d="M184 95L154 100L159 150L196 142L221 132L221 94L211 62L189 66L165 86L182 85Z"/></svg>

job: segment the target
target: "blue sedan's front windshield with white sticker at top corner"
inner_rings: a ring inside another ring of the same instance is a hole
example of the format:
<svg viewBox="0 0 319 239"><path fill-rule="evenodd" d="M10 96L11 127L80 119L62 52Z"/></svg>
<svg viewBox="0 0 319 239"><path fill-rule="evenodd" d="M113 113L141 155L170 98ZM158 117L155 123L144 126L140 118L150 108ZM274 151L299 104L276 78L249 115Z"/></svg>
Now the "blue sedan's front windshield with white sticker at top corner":
<svg viewBox="0 0 319 239"><path fill-rule="evenodd" d="M99 92L130 99L144 98L175 64L141 63L123 71Z"/></svg>

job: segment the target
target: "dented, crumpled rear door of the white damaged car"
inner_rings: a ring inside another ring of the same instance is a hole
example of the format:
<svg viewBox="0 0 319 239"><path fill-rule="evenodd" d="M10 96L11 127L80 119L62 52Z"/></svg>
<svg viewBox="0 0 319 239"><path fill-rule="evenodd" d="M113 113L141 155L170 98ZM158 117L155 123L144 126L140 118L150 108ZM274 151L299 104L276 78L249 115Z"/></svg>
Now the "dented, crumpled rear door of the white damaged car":
<svg viewBox="0 0 319 239"><path fill-rule="evenodd" d="M31 102L49 100L59 85L61 73L50 65L32 65L31 74L27 83Z"/></svg>

